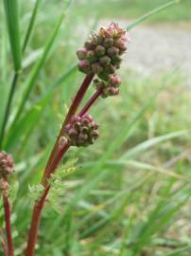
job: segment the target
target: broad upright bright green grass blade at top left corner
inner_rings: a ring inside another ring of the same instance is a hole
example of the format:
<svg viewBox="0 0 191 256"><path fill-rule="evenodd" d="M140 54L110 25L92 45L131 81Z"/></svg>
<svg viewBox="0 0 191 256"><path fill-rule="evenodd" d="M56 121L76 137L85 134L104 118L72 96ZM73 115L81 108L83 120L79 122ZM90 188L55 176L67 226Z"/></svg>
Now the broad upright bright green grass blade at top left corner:
<svg viewBox="0 0 191 256"><path fill-rule="evenodd" d="M17 0L4 0L4 8L9 30L9 43L15 72L21 69L22 53Z"/></svg>

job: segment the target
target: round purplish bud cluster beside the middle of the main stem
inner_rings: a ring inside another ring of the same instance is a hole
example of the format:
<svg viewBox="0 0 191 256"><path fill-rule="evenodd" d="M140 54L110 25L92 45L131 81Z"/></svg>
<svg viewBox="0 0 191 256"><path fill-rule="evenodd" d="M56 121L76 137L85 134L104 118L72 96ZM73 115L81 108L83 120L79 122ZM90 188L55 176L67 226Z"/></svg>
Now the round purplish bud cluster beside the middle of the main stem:
<svg viewBox="0 0 191 256"><path fill-rule="evenodd" d="M65 134L71 145L86 147L93 144L98 137L98 125L90 115L73 117L65 127Z"/></svg>

